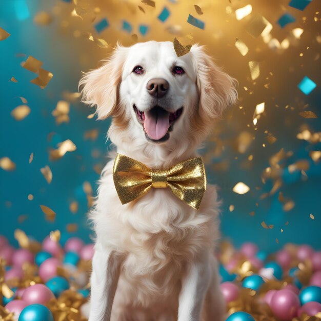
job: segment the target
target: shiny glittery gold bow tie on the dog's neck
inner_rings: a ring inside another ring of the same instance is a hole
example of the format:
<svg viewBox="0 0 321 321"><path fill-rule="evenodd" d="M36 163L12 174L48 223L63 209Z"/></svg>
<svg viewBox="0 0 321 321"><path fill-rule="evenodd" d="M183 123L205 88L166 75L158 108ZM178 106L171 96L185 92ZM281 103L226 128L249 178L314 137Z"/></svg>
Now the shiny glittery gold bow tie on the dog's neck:
<svg viewBox="0 0 321 321"><path fill-rule="evenodd" d="M113 179L122 204L142 197L152 187L169 187L183 202L198 210L206 189L202 157L184 160L169 169L150 169L135 159L117 154Z"/></svg>

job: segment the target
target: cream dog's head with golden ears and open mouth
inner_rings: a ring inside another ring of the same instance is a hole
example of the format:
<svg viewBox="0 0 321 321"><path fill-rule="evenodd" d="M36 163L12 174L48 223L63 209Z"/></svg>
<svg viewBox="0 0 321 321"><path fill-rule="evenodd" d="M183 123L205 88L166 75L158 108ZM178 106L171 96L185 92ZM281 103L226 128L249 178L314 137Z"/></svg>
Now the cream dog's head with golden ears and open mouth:
<svg viewBox="0 0 321 321"><path fill-rule="evenodd" d="M169 144L186 136L199 143L237 99L236 81L217 67L203 46L177 57L173 43L117 46L102 67L81 79L83 102L98 119L113 116L119 130L146 144Z"/></svg>

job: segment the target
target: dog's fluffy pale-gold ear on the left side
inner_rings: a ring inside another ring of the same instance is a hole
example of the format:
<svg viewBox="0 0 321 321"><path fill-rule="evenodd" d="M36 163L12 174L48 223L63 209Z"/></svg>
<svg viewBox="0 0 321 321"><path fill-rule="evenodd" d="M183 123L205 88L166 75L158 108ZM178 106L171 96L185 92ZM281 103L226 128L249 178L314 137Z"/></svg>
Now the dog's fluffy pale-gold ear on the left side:
<svg viewBox="0 0 321 321"><path fill-rule="evenodd" d="M97 119L111 116L118 108L118 89L122 81L127 48L117 44L104 65L87 72L79 82L82 102L97 106Z"/></svg>

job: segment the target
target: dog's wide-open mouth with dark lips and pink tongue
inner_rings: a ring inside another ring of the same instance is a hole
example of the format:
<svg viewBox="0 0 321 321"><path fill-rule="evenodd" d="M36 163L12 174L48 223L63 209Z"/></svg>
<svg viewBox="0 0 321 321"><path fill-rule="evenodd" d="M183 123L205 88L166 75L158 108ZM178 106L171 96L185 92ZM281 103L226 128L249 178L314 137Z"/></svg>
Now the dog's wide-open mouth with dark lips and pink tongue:
<svg viewBox="0 0 321 321"><path fill-rule="evenodd" d="M170 127L183 112L183 107L172 113L159 106L155 106L145 112L139 110L136 105L133 105L133 108L139 123L143 125L145 133L152 141L160 141L165 138Z"/></svg>

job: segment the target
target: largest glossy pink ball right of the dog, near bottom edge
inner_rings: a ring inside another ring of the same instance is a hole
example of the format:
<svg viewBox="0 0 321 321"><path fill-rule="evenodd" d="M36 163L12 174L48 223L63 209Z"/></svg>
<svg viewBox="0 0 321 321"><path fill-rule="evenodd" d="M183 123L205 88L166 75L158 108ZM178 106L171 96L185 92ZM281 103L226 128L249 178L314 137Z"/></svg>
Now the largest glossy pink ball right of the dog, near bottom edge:
<svg viewBox="0 0 321 321"><path fill-rule="evenodd" d="M272 296L270 306L276 317L282 321L289 321L297 316L300 300L294 292L282 289Z"/></svg>

